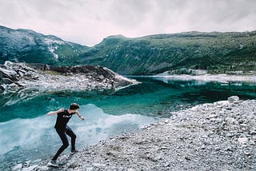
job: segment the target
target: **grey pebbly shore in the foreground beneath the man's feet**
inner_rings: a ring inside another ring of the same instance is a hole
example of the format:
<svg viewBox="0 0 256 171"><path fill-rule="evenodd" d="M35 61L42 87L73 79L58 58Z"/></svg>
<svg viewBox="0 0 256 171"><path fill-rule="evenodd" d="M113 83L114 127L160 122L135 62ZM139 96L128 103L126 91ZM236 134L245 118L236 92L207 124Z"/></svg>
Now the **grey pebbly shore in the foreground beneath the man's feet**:
<svg viewBox="0 0 256 171"><path fill-rule="evenodd" d="M25 170L255 170L256 101L196 105L172 113L137 133L126 133L62 155L60 168L46 164Z"/></svg>

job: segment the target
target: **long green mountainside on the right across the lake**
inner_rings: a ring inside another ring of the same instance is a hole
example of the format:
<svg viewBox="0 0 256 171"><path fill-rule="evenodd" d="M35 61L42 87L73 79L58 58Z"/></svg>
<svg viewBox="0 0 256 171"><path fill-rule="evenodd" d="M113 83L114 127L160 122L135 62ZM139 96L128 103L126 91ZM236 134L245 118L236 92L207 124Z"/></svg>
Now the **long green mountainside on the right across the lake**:
<svg viewBox="0 0 256 171"><path fill-rule="evenodd" d="M182 68L213 74L249 72L256 70L256 31L110 36L80 58L82 63L106 66L118 74L158 74Z"/></svg>

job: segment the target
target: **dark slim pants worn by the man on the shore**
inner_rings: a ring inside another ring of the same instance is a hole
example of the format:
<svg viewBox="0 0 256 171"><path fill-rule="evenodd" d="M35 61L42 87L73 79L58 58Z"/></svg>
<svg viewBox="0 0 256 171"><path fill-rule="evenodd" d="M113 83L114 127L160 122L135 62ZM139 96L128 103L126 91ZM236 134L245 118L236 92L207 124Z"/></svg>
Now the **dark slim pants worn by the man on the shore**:
<svg viewBox="0 0 256 171"><path fill-rule="evenodd" d="M58 152L53 157L53 160L57 160L58 156L69 146L69 141L67 140L66 134L71 137L71 150L74 150L75 138L77 137L70 127L66 126L66 129L56 129L58 136L62 140L62 146L58 149Z"/></svg>

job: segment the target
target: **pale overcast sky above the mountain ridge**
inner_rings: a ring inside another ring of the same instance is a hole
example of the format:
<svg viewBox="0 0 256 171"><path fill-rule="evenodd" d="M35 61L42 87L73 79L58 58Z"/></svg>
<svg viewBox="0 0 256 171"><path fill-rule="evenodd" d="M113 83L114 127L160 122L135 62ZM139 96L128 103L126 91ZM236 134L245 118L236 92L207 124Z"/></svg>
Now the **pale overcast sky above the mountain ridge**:
<svg viewBox="0 0 256 171"><path fill-rule="evenodd" d="M94 46L184 31L256 30L256 0L0 0L0 25Z"/></svg>

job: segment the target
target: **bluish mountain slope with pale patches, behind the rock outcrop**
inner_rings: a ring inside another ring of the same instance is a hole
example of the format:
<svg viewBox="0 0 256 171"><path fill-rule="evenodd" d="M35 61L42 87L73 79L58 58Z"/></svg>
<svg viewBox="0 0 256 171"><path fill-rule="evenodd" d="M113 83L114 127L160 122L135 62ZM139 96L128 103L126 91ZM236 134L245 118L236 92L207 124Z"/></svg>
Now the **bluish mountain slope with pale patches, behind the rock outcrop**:
<svg viewBox="0 0 256 171"><path fill-rule="evenodd" d="M78 63L78 55L89 47L63 41L33 30L12 30L0 26L0 63L28 62L49 65Z"/></svg>

